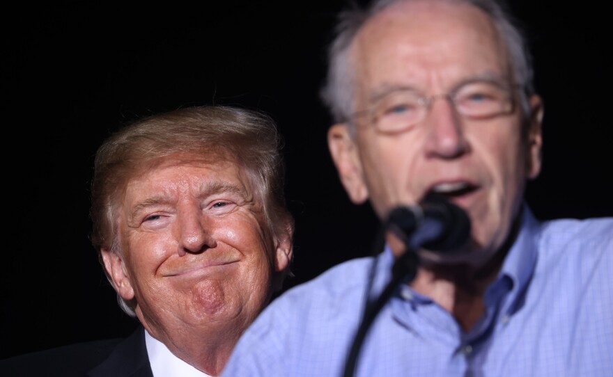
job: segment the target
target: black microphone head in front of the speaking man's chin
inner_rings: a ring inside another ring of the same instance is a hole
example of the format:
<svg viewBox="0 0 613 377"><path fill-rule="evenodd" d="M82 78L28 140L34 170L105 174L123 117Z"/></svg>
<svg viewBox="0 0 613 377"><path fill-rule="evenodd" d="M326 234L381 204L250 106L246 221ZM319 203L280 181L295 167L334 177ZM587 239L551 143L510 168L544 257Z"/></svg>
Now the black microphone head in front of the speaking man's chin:
<svg viewBox="0 0 613 377"><path fill-rule="evenodd" d="M419 204L389 212L387 227L411 250L426 248L447 253L470 239L470 218L443 195L428 193Z"/></svg>

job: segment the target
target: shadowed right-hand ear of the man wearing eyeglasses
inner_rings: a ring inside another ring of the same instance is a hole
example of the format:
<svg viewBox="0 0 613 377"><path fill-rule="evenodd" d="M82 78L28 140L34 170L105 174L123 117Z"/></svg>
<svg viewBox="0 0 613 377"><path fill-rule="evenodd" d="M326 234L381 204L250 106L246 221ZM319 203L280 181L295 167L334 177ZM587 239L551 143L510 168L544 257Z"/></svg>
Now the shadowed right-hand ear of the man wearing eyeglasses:
<svg viewBox="0 0 613 377"><path fill-rule="evenodd" d="M535 179L541 173L543 149L543 100L538 95L530 97L530 116L527 130L527 178Z"/></svg>

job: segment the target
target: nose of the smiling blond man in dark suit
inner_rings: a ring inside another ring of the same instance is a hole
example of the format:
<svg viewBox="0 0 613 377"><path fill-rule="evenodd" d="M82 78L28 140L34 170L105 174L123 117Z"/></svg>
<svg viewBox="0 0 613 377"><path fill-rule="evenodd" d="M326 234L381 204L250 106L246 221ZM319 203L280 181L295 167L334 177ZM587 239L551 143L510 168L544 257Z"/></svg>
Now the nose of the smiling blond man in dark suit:
<svg viewBox="0 0 613 377"><path fill-rule="evenodd" d="M179 216L180 236L178 255L198 254L208 248L215 248L213 221L201 211L183 212Z"/></svg>

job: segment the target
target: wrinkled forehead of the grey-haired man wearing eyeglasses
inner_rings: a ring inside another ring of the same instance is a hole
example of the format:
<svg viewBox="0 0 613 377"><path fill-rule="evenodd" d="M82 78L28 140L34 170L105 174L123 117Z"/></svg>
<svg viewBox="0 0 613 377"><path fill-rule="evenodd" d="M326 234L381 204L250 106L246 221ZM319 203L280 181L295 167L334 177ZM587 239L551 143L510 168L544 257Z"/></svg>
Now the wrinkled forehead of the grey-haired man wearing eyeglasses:
<svg viewBox="0 0 613 377"><path fill-rule="evenodd" d="M359 86L451 86L472 75L511 79L504 41L486 13L465 3L406 1L385 8L357 33Z"/></svg>

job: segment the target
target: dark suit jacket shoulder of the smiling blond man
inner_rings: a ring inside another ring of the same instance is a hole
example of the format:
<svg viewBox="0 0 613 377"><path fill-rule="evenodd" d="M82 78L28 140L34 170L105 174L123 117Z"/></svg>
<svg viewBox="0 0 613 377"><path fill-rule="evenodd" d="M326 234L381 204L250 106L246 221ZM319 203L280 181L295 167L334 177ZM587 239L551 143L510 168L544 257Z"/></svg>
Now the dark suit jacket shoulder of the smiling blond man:
<svg viewBox="0 0 613 377"><path fill-rule="evenodd" d="M71 344L0 360L2 377L153 377L142 326L125 339Z"/></svg>

